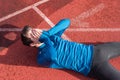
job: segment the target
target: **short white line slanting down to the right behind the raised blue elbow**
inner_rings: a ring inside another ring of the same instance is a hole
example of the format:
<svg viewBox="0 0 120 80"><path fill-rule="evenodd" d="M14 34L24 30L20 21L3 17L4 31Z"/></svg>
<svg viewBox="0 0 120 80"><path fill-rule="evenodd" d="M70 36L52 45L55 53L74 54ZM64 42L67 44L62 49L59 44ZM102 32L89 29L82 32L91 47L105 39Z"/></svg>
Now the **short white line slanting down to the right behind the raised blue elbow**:
<svg viewBox="0 0 120 80"><path fill-rule="evenodd" d="M36 6L32 7L51 27L54 27L55 24ZM71 40L69 37L67 37L65 34L63 34L63 37L67 40Z"/></svg>

